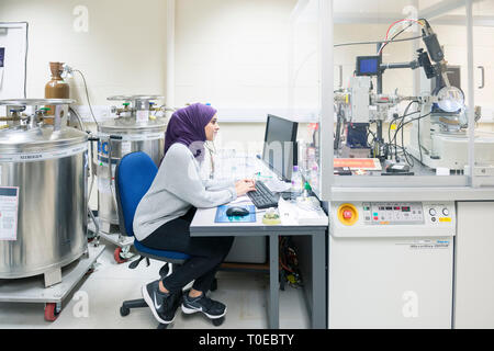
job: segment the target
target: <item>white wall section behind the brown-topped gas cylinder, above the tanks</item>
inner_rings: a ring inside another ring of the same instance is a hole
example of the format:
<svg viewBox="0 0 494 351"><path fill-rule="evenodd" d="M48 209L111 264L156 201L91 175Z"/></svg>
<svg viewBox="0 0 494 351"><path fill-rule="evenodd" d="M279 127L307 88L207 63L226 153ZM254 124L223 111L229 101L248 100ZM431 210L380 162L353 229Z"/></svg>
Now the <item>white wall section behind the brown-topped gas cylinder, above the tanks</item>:
<svg viewBox="0 0 494 351"><path fill-rule="evenodd" d="M138 5L137 5L138 3ZM78 5L88 9L88 32L76 32ZM166 93L166 2L162 0L1 0L0 21L27 21L27 98L43 98L49 61L80 69L91 103L115 94ZM71 97L87 104L82 79Z"/></svg>

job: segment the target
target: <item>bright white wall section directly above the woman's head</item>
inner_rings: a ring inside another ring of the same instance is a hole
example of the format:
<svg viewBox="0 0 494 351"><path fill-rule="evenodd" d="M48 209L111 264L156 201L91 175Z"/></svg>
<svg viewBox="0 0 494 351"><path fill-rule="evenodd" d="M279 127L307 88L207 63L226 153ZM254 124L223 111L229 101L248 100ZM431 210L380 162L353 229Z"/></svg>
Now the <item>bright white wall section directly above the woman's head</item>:
<svg viewBox="0 0 494 351"><path fill-rule="evenodd" d="M287 104L288 24L295 0L179 0L176 101L218 109Z"/></svg>

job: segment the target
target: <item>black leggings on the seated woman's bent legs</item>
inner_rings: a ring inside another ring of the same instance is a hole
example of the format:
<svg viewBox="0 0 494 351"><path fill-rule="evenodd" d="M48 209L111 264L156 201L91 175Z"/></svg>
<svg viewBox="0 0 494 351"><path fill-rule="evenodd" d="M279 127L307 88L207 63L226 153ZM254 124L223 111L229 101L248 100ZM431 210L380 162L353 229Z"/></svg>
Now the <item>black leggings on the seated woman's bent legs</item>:
<svg viewBox="0 0 494 351"><path fill-rule="evenodd" d="M141 241L156 250L177 251L191 258L162 280L170 292L180 291L195 280L193 288L206 293L213 283L223 260L232 248L233 237L190 237L190 224L197 208L192 207L183 216L170 220Z"/></svg>

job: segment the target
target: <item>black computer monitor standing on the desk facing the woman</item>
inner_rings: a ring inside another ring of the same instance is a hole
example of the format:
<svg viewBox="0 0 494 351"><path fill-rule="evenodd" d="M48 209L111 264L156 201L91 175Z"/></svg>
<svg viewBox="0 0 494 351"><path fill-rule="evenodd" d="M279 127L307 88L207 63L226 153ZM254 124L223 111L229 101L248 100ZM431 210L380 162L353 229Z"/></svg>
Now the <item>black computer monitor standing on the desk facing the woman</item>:
<svg viewBox="0 0 494 351"><path fill-rule="evenodd" d="M299 123L268 114L262 160L281 179L292 179L293 165L297 163L296 132Z"/></svg>

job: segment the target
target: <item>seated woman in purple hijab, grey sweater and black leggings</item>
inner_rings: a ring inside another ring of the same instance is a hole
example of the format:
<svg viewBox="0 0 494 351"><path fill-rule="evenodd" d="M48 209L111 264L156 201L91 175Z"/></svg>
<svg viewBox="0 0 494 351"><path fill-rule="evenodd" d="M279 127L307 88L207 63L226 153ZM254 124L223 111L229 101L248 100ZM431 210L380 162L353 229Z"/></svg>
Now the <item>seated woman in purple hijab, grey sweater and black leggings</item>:
<svg viewBox="0 0 494 351"><path fill-rule="evenodd" d="M216 207L255 190L250 180L236 183L204 181L200 162L204 141L220 131L216 110L200 103L181 109L171 116L165 157L146 195L137 206L134 233L146 247L191 256L170 275L143 286L143 297L160 324L173 321L178 306L188 314L202 312L221 318L226 306L206 296L214 275L232 248L232 237L190 237L190 223L198 207ZM182 288L194 280L182 298Z"/></svg>

